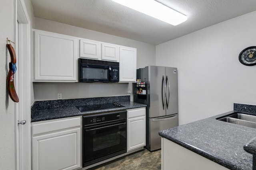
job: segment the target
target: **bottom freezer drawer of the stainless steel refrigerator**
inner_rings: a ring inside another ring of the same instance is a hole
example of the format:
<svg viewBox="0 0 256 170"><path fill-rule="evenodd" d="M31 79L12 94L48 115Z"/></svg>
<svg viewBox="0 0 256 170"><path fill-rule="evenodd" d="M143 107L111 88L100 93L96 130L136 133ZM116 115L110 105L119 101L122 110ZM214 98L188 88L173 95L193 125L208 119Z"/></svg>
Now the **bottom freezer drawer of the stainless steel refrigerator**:
<svg viewBox="0 0 256 170"><path fill-rule="evenodd" d="M178 126L178 114L149 119L149 144L146 148L150 151L161 149L159 131Z"/></svg>

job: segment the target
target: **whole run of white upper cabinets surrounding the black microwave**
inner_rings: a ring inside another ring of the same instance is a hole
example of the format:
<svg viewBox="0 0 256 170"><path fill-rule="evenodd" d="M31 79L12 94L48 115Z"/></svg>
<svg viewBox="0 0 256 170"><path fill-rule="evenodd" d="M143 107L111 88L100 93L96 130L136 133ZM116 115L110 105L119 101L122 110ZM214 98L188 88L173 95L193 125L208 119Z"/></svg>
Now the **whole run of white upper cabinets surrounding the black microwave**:
<svg viewBox="0 0 256 170"><path fill-rule="evenodd" d="M79 57L119 62L119 82L136 82L137 49L34 29L34 82L78 82Z"/></svg>

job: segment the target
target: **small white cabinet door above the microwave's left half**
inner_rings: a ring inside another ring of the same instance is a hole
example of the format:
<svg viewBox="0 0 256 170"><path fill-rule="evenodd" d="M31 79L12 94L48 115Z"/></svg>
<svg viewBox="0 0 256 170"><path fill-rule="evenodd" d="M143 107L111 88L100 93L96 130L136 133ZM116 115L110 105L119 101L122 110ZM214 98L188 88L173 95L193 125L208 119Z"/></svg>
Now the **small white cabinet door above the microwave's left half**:
<svg viewBox="0 0 256 170"><path fill-rule="evenodd" d="M80 39L80 57L88 59L101 59L101 47L99 41Z"/></svg>

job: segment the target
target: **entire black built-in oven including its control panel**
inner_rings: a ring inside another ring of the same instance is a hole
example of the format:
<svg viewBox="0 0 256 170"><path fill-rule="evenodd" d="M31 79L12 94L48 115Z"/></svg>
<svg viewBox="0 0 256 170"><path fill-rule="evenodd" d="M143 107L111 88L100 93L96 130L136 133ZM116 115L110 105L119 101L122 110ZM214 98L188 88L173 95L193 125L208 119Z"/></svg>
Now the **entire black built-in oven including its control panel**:
<svg viewBox="0 0 256 170"><path fill-rule="evenodd" d="M126 153L126 111L83 116L83 167Z"/></svg>

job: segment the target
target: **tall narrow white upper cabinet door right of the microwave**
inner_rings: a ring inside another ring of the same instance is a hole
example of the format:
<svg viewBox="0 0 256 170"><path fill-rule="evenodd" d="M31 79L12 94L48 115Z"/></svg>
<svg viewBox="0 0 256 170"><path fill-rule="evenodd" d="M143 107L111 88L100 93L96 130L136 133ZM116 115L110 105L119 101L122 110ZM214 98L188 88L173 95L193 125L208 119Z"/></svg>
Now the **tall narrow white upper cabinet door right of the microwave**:
<svg viewBox="0 0 256 170"><path fill-rule="evenodd" d="M119 82L136 82L137 49L120 47Z"/></svg>

